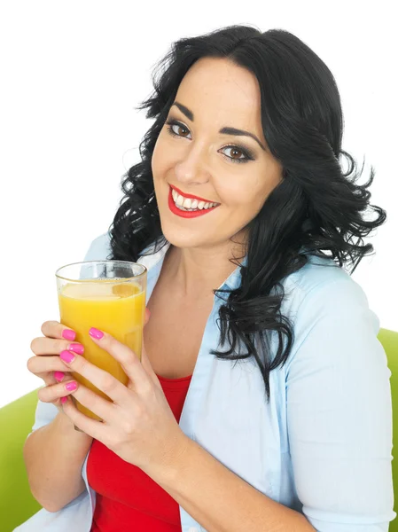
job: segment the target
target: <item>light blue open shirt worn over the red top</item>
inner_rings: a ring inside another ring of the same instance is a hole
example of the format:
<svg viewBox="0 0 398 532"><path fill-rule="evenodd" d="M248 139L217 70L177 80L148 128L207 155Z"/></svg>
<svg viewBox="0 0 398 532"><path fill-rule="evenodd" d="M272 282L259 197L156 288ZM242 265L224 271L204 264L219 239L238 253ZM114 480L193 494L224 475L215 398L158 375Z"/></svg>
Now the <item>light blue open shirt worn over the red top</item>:
<svg viewBox="0 0 398 532"><path fill-rule="evenodd" d="M146 301L168 246L138 260L148 269ZM84 260L109 255L105 233ZM240 282L238 267L220 288ZM179 425L255 489L302 512L318 532L387 532L396 516L391 372L378 317L361 286L330 259L311 256L283 285L281 312L294 320L295 339L285 365L270 372L269 403L254 358L234 365L210 354L220 338L222 301L215 296ZM275 356L275 335L270 348ZM57 414L39 401L32 432ZM86 491L59 512L40 510L15 531L90 532L96 493L87 480L89 454L82 466ZM180 517L183 532L206 532L182 506Z"/></svg>

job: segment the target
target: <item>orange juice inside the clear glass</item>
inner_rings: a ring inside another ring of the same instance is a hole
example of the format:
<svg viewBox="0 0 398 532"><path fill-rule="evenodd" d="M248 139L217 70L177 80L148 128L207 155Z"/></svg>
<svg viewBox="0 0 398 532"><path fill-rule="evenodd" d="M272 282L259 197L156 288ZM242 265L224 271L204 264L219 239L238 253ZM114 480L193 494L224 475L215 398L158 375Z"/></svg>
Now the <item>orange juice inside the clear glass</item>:
<svg viewBox="0 0 398 532"><path fill-rule="evenodd" d="M74 341L82 343L84 356L90 363L109 372L122 384L129 378L113 356L99 348L91 339L91 327L108 332L129 346L141 360L143 338L145 291L137 282L120 282L115 279L96 278L79 283L66 283L59 292L60 323L76 332ZM73 372L73 378L108 401L111 399L98 390L90 380ZM92 419L98 416L74 400L76 408Z"/></svg>

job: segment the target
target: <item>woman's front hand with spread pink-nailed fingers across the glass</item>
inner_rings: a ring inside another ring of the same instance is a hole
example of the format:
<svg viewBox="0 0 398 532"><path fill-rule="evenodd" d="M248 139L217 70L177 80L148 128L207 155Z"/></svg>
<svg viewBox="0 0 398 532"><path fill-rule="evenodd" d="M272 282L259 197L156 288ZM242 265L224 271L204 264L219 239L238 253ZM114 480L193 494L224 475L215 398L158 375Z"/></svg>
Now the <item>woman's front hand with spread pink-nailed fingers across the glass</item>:
<svg viewBox="0 0 398 532"><path fill-rule="evenodd" d="M91 331L92 340L121 364L129 382L124 386L113 375L88 362L84 356L67 351L74 354L74 360L69 363L63 359L71 372L90 380L113 403L77 383L78 387L72 395L103 422L90 419L78 411L70 398L63 404L66 416L75 426L104 443L129 464L143 470L152 465L167 465L168 460L175 460L183 453L187 436L168 405L144 345L140 362L134 351L110 334L104 332L102 338L96 339Z"/></svg>

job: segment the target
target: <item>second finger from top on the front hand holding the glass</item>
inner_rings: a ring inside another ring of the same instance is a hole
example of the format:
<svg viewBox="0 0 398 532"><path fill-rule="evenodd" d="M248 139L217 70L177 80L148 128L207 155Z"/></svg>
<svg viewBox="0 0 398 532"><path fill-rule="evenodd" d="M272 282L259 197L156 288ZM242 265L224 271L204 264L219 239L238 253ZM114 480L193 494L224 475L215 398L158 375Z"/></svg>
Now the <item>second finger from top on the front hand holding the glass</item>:
<svg viewBox="0 0 398 532"><path fill-rule="evenodd" d="M82 375L98 390L104 392L114 403L125 404L128 402L129 389L111 373L105 372L98 366L91 364L84 356L75 355L72 351L62 351L59 357L68 366L70 372Z"/></svg>

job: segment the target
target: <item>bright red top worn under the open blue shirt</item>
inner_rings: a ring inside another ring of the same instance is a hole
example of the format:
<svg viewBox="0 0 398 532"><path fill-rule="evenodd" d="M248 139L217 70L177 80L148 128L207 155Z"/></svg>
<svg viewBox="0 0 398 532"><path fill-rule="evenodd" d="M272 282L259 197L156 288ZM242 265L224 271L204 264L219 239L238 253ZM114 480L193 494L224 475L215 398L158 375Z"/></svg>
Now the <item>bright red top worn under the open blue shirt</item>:
<svg viewBox="0 0 398 532"><path fill-rule="evenodd" d="M160 377L161 387L177 422L180 421L191 375ZM167 491L137 465L128 464L103 443L93 440L87 461L90 488L97 503L90 532L181 532L179 505ZM134 524L133 528L131 525Z"/></svg>

